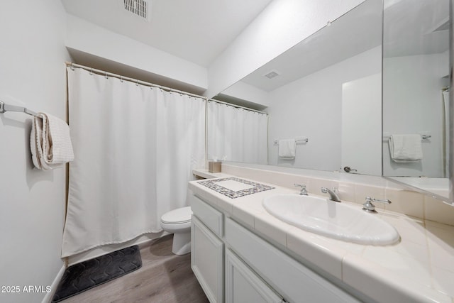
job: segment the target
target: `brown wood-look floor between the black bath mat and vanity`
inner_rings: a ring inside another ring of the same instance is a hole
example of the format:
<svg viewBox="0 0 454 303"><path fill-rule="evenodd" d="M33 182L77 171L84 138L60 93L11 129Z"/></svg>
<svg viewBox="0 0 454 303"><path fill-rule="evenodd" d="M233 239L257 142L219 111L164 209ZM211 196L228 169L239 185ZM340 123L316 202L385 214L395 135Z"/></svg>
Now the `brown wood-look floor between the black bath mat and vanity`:
<svg viewBox="0 0 454 303"><path fill-rule="evenodd" d="M191 270L191 254L172 253L172 236L140 248L142 268L61 302L209 302Z"/></svg>

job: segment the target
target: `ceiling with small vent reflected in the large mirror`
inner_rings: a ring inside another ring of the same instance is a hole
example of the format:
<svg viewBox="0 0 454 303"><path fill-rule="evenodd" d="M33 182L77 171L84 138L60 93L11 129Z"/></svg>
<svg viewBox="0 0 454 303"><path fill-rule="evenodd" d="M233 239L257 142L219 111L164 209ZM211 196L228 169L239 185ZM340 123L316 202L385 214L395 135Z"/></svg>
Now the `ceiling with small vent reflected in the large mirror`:
<svg viewBox="0 0 454 303"><path fill-rule="evenodd" d="M381 44L382 2L367 0L241 81L271 92ZM268 79L270 71L279 76Z"/></svg>

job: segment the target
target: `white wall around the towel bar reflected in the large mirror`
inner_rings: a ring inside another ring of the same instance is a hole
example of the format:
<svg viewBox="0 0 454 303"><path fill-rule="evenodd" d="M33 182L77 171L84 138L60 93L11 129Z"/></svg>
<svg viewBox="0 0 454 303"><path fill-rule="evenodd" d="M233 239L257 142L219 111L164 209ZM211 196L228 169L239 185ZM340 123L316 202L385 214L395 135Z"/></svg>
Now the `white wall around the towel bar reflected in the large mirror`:
<svg viewBox="0 0 454 303"><path fill-rule="evenodd" d="M342 84L382 70L381 46L270 92L268 162L316 170L341 168ZM380 114L380 113L377 113ZM306 137L294 160L277 156L279 138Z"/></svg>

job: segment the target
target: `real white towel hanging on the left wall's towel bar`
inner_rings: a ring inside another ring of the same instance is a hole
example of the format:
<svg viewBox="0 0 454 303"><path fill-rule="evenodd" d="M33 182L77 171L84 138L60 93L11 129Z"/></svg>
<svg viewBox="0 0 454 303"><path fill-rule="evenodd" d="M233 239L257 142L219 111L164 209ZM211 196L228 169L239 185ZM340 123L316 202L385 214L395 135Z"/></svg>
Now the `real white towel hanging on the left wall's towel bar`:
<svg viewBox="0 0 454 303"><path fill-rule="evenodd" d="M33 119L30 134L33 165L40 170L53 170L74 160L70 127L62 119L39 113Z"/></svg>

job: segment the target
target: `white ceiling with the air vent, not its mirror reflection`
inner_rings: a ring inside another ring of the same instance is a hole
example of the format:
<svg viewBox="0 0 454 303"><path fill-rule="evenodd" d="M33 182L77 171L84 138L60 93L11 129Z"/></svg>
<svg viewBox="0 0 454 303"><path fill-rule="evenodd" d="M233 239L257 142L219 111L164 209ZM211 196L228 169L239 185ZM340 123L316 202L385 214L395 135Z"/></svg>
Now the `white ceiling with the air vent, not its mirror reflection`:
<svg viewBox="0 0 454 303"><path fill-rule="evenodd" d="M124 0L61 1L73 16L208 67L272 0L145 0L149 21Z"/></svg>

